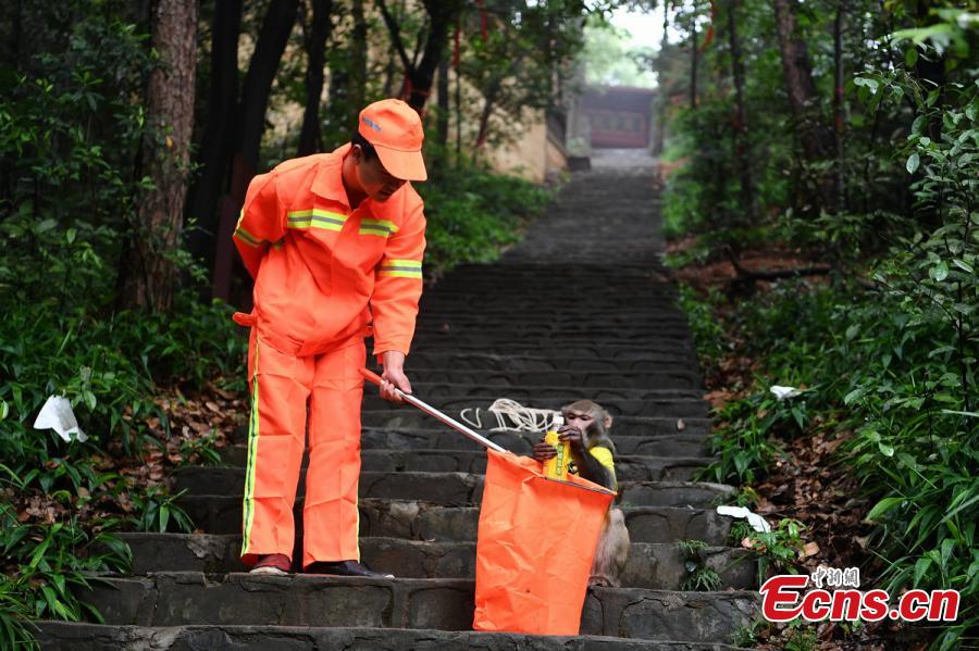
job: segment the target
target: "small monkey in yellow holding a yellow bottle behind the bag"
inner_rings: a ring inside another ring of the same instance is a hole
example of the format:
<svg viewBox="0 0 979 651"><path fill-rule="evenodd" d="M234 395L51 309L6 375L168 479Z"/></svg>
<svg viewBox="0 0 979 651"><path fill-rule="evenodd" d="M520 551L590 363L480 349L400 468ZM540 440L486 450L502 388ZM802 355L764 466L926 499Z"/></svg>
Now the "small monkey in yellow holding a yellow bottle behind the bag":
<svg viewBox="0 0 979 651"><path fill-rule="evenodd" d="M608 436L612 417L599 404L579 400L561 408L565 425L558 429L560 440L571 446L571 472L609 490L618 490L614 455L615 443ZM534 446L534 459L540 462L557 455L550 443L542 439ZM588 587L620 587L619 576L629 556L629 530L622 510L609 506L602 523L602 535L595 548L595 560Z"/></svg>

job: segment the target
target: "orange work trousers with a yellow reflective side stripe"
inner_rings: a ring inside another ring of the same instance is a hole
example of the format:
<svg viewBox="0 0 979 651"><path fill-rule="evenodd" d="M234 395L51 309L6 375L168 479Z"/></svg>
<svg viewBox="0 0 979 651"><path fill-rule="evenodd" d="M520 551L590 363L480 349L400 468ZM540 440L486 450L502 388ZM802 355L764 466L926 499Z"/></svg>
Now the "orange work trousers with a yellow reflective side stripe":
<svg viewBox="0 0 979 651"><path fill-rule="evenodd" d="M302 508L302 566L360 561L357 544L363 338L313 356L281 352L251 328L251 414L245 475L241 561L293 558L293 506L309 433Z"/></svg>

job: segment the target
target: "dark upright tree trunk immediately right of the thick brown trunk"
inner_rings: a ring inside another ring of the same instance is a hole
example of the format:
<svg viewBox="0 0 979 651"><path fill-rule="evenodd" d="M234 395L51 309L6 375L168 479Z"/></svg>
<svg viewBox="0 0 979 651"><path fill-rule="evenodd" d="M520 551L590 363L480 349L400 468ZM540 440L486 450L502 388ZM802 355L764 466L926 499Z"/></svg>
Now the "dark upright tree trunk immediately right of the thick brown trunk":
<svg viewBox="0 0 979 651"><path fill-rule="evenodd" d="M197 227L188 235L188 248L208 268L214 262L214 233L218 230L218 197L225 189L232 150L232 128L238 101L238 33L241 0L214 4L211 23L211 84L208 116L197 158L199 172L187 201L186 217Z"/></svg>

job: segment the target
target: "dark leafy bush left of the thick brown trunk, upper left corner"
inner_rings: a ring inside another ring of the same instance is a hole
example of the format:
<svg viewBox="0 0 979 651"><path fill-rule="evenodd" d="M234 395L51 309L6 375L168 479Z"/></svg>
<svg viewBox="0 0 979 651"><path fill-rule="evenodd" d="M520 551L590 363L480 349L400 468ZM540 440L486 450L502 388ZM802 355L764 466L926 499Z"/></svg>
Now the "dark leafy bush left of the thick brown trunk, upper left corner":
<svg viewBox="0 0 979 651"><path fill-rule="evenodd" d="M133 174L147 130L147 37L123 2L18 9L17 65L0 63L0 299L59 310L112 296L147 181ZM82 18L85 20L82 20Z"/></svg>

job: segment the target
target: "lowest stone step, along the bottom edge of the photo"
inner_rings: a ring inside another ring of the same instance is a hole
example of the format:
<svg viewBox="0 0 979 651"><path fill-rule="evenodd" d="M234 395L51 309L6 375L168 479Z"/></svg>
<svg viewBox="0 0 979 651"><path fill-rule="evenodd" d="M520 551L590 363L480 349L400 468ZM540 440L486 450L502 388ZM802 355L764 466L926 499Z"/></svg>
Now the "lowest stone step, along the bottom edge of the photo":
<svg viewBox="0 0 979 651"><path fill-rule="evenodd" d="M529 636L509 633L324 626L111 626L38 622L47 651L739 651L721 643L654 642L603 636Z"/></svg>

